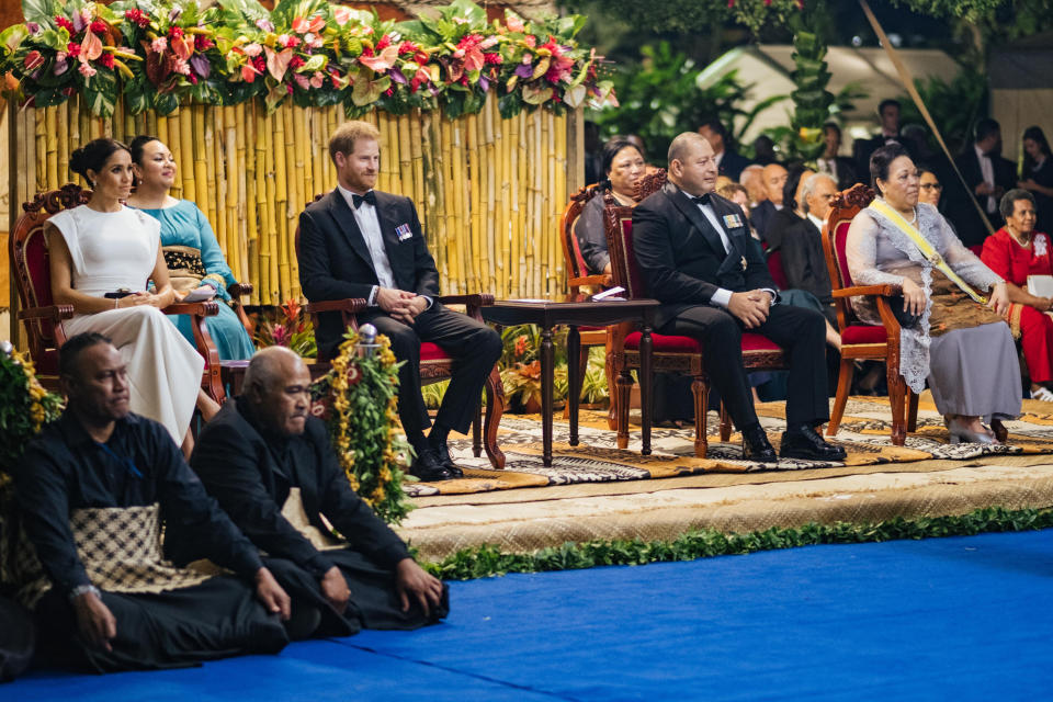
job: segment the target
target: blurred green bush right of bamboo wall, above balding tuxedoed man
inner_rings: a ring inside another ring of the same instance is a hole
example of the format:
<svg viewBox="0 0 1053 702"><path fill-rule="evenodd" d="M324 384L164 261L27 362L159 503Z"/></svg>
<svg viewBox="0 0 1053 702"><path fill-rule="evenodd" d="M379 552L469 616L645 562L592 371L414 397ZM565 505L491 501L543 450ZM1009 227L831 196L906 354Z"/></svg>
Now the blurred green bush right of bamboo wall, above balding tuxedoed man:
<svg viewBox="0 0 1053 702"><path fill-rule="evenodd" d="M738 105L751 86L744 84L736 71L702 88L698 80L702 68L684 54L675 54L668 42L644 45L639 53L639 66L621 66L613 76L620 106L589 115L604 139L616 134L643 137L652 161L663 160L672 137L694 132L709 117L735 125L737 137L760 112L786 98L772 95L746 112Z"/></svg>

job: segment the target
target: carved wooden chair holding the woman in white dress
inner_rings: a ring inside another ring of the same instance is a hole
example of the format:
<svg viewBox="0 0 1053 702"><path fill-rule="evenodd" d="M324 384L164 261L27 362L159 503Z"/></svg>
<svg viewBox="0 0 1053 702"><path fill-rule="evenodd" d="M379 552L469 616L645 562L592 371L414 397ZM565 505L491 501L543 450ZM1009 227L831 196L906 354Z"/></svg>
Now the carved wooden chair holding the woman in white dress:
<svg viewBox="0 0 1053 702"><path fill-rule="evenodd" d="M91 191L68 183L59 190L38 193L23 203L23 214L11 233L11 269L19 291L19 319L25 324L30 356L36 366L41 383L48 389L58 389L58 349L66 343L61 321L73 316L72 305L56 305L52 298L50 269L44 223L63 210L88 202ZM226 398L220 381L219 354L205 317L215 315L218 304L177 303L161 312L168 315L190 315L193 318L194 341L205 359L202 387L217 403Z"/></svg>

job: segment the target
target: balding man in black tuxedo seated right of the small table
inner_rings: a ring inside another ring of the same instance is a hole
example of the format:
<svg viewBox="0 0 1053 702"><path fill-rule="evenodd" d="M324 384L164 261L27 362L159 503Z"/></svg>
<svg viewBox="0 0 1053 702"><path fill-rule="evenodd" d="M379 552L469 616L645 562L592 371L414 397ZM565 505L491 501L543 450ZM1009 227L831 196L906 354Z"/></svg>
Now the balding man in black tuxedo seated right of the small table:
<svg viewBox="0 0 1053 702"><path fill-rule="evenodd" d="M669 182L633 210L633 248L648 294L661 302L659 333L703 343L705 370L743 432L744 457L774 462L743 369L743 329L781 346L790 360L783 457L840 461L815 427L829 418L826 322L811 309L775 303L775 284L738 205L713 194L713 147L697 133L669 146Z"/></svg>

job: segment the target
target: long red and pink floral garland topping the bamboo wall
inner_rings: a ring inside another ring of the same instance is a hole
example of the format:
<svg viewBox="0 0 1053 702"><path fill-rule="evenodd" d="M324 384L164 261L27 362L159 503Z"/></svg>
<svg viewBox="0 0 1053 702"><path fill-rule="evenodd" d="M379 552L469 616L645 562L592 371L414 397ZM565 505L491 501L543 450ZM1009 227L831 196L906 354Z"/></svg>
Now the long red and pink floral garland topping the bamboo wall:
<svg viewBox="0 0 1053 702"><path fill-rule="evenodd" d="M487 23L472 0L437 18L380 21L327 0L23 0L26 22L0 33L5 92L44 107L79 93L111 116L181 104L261 99L268 110L342 104L349 117L442 106L478 112L495 93L501 115L544 106L616 104L599 80L602 57L578 46L585 18L523 20L506 10Z"/></svg>

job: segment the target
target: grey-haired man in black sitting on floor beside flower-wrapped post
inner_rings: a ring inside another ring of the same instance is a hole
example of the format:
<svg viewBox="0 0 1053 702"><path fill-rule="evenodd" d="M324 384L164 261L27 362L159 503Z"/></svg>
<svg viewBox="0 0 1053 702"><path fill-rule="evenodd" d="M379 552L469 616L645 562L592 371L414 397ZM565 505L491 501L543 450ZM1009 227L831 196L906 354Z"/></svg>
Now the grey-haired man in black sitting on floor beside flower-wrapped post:
<svg viewBox="0 0 1053 702"><path fill-rule="evenodd" d="M445 586L351 489L324 422L309 416L310 373L294 352L252 356L245 393L202 430L191 456L205 488L293 598L317 636L417 629L446 615ZM332 537L330 528L346 541ZM320 619L318 619L320 615Z"/></svg>

